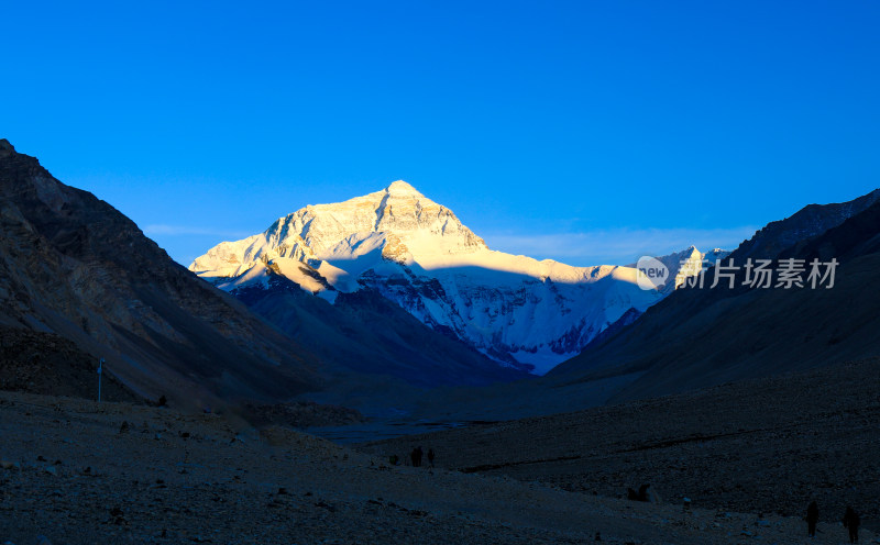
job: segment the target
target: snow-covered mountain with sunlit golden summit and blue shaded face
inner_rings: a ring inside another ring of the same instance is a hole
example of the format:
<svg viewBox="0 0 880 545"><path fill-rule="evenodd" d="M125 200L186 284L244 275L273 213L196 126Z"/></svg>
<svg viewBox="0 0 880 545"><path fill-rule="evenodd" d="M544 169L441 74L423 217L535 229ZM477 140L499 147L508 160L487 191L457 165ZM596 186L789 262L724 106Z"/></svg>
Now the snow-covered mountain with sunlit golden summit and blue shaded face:
<svg viewBox="0 0 880 545"><path fill-rule="evenodd" d="M667 293L640 289L632 267L571 267L493 252L452 211L404 181L308 205L264 233L217 245L189 268L230 291L266 286L273 274L331 302L371 289L503 366L537 372Z"/></svg>

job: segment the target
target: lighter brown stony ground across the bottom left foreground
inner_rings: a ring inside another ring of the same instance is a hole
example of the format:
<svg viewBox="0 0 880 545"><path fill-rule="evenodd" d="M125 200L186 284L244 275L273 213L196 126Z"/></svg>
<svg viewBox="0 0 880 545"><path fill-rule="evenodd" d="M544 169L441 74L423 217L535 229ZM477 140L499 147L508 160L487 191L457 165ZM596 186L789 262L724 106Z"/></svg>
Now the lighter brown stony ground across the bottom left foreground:
<svg viewBox="0 0 880 545"><path fill-rule="evenodd" d="M805 541L804 523L794 516L685 512L678 503L562 489L583 488L580 481L554 486L391 466L385 456L304 433L256 432L233 414L3 392L0 437L0 542L18 545L40 535L55 545ZM539 438L509 451L528 454ZM651 442L652 434L639 441ZM451 446L440 452L440 459L453 459ZM618 457L641 452L650 449ZM683 467L676 475L685 474ZM824 519L811 543L843 543L836 519ZM864 532L862 543L873 540Z"/></svg>

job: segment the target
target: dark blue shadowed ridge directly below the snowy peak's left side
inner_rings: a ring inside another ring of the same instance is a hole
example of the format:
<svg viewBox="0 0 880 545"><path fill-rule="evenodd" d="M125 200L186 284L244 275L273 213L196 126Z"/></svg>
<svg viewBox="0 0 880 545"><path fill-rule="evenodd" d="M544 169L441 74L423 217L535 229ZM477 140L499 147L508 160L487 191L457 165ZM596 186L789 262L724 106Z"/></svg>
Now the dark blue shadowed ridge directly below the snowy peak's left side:
<svg viewBox="0 0 880 545"><path fill-rule="evenodd" d="M338 293L334 304L273 276L233 294L322 360L419 388L526 378L419 322L371 289Z"/></svg>

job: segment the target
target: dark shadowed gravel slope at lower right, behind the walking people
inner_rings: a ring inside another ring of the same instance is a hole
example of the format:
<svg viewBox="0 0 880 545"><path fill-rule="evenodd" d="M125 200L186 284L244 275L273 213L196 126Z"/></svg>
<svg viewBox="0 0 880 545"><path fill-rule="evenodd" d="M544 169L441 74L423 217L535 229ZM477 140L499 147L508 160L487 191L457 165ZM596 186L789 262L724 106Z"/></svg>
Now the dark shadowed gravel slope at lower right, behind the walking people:
<svg viewBox="0 0 880 545"><path fill-rule="evenodd" d="M826 522L851 504L877 531L880 359L359 448L417 445L446 468L600 497L650 483L667 502L782 516L803 516L815 499Z"/></svg>

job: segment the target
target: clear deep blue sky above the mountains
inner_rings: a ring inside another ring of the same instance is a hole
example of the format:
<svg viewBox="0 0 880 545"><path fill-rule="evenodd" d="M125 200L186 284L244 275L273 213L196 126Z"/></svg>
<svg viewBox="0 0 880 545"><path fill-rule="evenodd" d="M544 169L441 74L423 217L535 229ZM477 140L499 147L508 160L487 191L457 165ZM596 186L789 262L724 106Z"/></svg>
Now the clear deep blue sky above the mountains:
<svg viewBox="0 0 880 545"><path fill-rule="evenodd" d="M572 265L880 186L880 3L12 2L0 137L188 264L405 179Z"/></svg>

